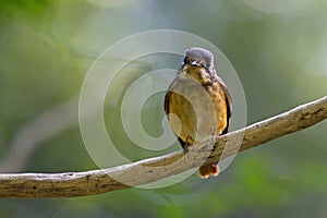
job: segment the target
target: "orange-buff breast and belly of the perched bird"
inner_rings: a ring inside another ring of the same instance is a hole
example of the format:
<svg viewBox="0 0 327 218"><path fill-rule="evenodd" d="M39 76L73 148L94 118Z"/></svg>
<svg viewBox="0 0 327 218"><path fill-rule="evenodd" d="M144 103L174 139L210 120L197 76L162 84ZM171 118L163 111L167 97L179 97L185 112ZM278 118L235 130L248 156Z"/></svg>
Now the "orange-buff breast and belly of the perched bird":
<svg viewBox="0 0 327 218"><path fill-rule="evenodd" d="M168 107L172 130L190 144L219 135L227 126L227 105L222 88L218 82L206 83L199 75L198 72L182 72L169 88Z"/></svg>

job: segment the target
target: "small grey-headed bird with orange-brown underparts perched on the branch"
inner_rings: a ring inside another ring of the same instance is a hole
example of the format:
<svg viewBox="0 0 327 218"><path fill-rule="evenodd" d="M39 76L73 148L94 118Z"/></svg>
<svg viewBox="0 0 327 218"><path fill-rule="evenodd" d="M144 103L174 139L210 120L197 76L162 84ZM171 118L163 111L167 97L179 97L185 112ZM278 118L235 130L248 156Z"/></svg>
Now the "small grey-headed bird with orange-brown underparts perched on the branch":
<svg viewBox="0 0 327 218"><path fill-rule="evenodd" d="M185 153L196 142L228 133L232 99L216 73L209 50L199 47L185 50L182 65L166 92L164 107ZM219 172L218 162L198 168L202 179Z"/></svg>

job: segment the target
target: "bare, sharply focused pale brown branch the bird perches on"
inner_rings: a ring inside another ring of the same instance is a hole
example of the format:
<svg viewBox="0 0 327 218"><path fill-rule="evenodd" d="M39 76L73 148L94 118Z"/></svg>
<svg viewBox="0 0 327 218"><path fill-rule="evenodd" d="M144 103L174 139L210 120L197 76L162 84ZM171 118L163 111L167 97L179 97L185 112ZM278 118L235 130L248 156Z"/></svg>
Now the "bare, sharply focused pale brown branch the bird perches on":
<svg viewBox="0 0 327 218"><path fill-rule="evenodd" d="M0 198L74 197L94 195L158 181L189 169L218 161L327 118L327 96L290 111L194 145L189 153L86 172L0 174ZM241 140L241 144L238 143ZM207 158L207 156L209 156Z"/></svg>

